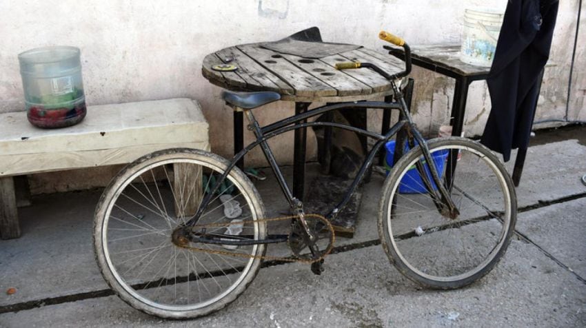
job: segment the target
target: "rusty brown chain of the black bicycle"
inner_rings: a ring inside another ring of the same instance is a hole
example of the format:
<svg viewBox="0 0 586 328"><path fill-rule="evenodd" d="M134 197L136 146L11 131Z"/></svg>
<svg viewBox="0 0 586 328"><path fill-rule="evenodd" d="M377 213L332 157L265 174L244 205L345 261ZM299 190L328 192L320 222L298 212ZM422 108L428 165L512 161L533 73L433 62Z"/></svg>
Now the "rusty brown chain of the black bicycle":
<svg viewBox="0 0 586 328"><path fill-rule="evenodd" d="M291 220L292 218L298 218L298 217L297 216L281 216L279 218L263 218L263 219L259 219L256 221L255 220L242 221L242 223L243 223L243 225L245 225L246 223L254 224L254 223L262 223L262 222ZM199 248L199 247L191 247L188 245L178 245L178 246L181 248L190 249L192 251L206 252L206 253L211 253L211 254L219 254L219 255L232 256L232 257L260 258L261 260L279 260L279 261L283 261L283 262L299 262L299 263L311 264L311 263L323 260L323 258L325 258L325 256L327 256L327 254L330 254L330 252L332 252L332 249L334 248L334 241L336 240L336 234L334 232L334 227L332 227L332 224L330 223L330 221L327 220L327 218L325 218L319 214L305 214L305 218L317 218L319 221L322 221L323 223L325 223L325 226L327 227L328 230L330 230L330 233L332 234L330 237L330 243L328 243L327 248L321 254L321 256L316 259L292 258L290 256L289 257L280 257L280 256L251 255L251 254L244 254L244 253L227 252L227 251L222 251L219 249L203 249L203 248ZM208 227L228 227L231 224L232 223L210 223L210 224L206 224L203 226L194 225L193 229L197 229L198 227L205 227L205 228L208 228ZM287 244L288 243L289 242L287 240Z"/></svg>

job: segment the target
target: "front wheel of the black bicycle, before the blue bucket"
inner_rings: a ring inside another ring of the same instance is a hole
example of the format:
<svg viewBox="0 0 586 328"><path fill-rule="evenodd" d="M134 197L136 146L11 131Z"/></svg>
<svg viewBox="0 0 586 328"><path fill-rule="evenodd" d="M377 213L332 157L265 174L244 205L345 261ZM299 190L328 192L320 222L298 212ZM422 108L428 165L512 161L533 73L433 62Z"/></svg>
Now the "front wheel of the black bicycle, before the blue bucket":
<svg viewBox="0 0 586 328"><path fill-rule="evenodd" d="M501 259L514 233L516 196L505 168L483 145L457 137L427 145L459 216L439 213L416 169L418 161L426 171L428 164L415 147L385 181L378 232L391 263L407 278L454 289L485 276Z"/></svg>

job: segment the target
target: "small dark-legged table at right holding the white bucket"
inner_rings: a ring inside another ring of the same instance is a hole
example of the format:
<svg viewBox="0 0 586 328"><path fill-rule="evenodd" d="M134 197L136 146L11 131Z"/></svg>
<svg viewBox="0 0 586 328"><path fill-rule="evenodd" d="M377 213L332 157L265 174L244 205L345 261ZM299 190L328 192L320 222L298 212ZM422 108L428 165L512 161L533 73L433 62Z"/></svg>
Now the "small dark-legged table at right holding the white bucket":
<svg viewBox="0 0 586 328"><path fill-rule="evenodd" d="M403 48L385 47L390 52L403 59ZM452 101L452 136L461 136L464 126L464 114L468 87L474 81L487 79L490 68L470 65L460 60L460 45L418 45L411 48L413 65L432 70L439 74L449 76L456 80L454 98ZM515 158L515 165L512 174L515 186L521 181L521 172L525 163L527 149L519 149Z"/></svg>

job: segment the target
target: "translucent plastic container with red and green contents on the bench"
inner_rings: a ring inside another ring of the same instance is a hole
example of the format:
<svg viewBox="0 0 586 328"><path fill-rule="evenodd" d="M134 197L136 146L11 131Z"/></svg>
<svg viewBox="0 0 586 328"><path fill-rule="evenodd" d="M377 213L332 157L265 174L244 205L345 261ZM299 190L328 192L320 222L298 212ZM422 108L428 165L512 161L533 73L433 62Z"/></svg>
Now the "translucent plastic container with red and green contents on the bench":
<svg viewBox="0 0 586 328"><path fill-rule="evenodd" d="M79 48L54 46L19 54L28 121L65 127L85 117Z"/></svg>

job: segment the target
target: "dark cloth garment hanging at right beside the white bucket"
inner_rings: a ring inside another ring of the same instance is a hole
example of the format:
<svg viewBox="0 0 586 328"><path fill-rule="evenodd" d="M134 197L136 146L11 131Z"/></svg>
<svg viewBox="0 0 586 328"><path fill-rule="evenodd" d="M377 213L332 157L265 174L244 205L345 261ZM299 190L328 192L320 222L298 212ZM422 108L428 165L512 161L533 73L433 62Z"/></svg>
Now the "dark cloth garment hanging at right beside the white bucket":
<svg viewBox="0 0 586 328"><path fill-rule="evenodd" d="M509 0L487 79L492 110L481 142L509 161L527 149L540 73L549 58L557 0Z"/></svg>

